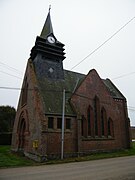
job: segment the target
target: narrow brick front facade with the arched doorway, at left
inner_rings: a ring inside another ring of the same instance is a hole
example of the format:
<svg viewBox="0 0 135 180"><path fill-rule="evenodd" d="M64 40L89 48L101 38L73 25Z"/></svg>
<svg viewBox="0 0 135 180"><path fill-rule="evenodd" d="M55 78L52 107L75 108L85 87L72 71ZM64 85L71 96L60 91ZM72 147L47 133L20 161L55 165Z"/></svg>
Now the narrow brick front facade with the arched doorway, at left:
<svg viewBox="0 0 135 180"><path fill-rule="evenodd" d="M27 78L26 78L27 77ZM27 102L22 105L22 94L25 79L27 79L28 83L28 90L27 90ZM19 122L21 119L24 119L25 126L27 125L28 128L25 128L25 132L23 134L23 138L25 139L25 144L23 146L23 151L27 152L27 154L34 153L40 154L42 151L41 146L41 132L42 128L45 125L45 115L43 112L43 105L40 98L40 92L37 88L36 77L34 73L34 68L32 63L29 61L26 73L24 77L24 82L22 85L22 91L20 93L20 99L18 103L18 109L16 113L14 128L13 128L13 135L12 135L12 150L18 151L19 150L19 141L20 141L20 129ZM38 147L33 147L33 142L38 141Z"/></svg>

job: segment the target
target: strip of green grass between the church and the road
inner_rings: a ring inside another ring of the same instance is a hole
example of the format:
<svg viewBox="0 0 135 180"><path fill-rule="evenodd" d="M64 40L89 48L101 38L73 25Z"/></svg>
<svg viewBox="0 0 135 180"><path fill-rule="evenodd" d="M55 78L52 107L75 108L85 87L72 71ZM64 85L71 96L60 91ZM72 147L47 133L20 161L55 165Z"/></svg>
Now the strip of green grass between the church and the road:
<svg viewBox="0 0 135 180"><path fill-rule="evenodd" d="M133 142L131 149L121 150L117 152L97 153L84 157L68 158L64 160L50 160L45 163L36 163L24 156L19 156L17 154L11 153L10 146L0 146L0 168L80 162L80 161L90 161L90 160L132 156L132 155L135 155L135 142Z"/></svg>

